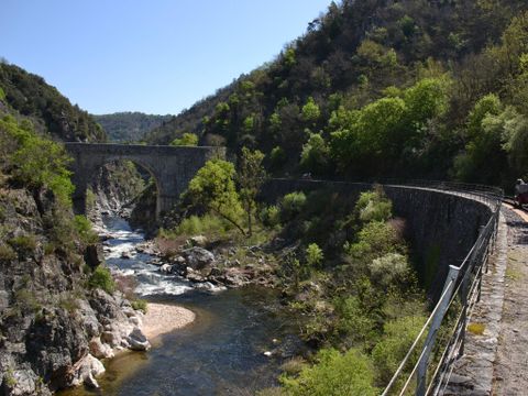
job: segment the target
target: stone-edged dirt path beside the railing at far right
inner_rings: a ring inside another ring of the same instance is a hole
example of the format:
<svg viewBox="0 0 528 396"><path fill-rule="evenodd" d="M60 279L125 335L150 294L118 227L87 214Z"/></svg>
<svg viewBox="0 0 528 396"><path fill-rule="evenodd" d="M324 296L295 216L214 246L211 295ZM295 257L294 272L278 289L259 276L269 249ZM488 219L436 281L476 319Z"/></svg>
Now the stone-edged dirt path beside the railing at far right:
<svg viewBox="0 0 528 396"><path fill-rule="evenodd" d="M507 267L493 395L528 394L528 216L504 211Z"/></svg>

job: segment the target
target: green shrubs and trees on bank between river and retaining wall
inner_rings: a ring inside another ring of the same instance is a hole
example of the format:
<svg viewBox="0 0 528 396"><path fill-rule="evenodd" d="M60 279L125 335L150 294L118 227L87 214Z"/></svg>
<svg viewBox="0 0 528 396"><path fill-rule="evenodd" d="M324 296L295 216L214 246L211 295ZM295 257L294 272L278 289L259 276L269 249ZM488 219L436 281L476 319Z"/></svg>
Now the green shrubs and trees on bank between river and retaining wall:
<svg viewBox="0 0 528 396"><path fill-rule="evenodd" d="M403 239L405 221L393 218L381 188L356 202L319 190L292 193L266 207L249 194L257 187L243 177L251 169L264 180L262 160L262 153L244 148L237 167L208 162L176 208L177 224L161 237L183 243L199 233L216 254L234 249L240 268L268 268L285 304L302 314L300 336L319 350L285 364L280 392L378 394L427 317ZM250 264L248 244L257 244L265 262Z"/></svg>

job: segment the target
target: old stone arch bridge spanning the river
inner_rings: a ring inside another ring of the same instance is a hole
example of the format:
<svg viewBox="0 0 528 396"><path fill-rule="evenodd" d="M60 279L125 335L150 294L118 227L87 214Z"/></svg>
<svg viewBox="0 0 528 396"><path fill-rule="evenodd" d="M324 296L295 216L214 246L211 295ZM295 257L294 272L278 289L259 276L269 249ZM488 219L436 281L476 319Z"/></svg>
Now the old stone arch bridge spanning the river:
<svg viewBox="0 0 528 396"><path fill-rule="evenodd" d="M224 157L224 147L148 146L111 143L65 143L74 158L70 169L75 185L76 213L86 212L86 189L97 170L113 161L130 160L145 168L156 182L156 215L167 211L208 160Z"/></svg>

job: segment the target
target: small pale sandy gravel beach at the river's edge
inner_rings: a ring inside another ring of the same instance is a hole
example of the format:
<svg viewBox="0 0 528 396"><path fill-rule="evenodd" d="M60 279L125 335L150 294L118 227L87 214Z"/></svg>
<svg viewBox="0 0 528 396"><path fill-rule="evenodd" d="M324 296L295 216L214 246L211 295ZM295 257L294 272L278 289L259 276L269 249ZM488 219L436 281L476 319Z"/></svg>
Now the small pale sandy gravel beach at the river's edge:
<svg viewBox="0 0 528 396"><path fill-rule="evenodd" d="M150 302L141 330L148 340L191 323L195 312L187 308L168 304Z"/></svg>

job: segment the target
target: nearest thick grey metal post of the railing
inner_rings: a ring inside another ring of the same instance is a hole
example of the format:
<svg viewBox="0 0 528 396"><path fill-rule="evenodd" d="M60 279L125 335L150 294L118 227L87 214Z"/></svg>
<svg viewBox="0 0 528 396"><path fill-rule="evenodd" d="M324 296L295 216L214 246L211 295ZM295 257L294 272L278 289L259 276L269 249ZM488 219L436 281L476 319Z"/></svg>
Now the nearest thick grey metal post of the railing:
<svg viewBox="0 0 528 396"><path fill-rule="evenodd" d="M429 328L429 332L426 338L426 343L424 344L424 349L426 352L422 354L420 361L418 362L418 370L416 374L416 396L425 396L427 389L427 369L429 366L429 355L431 354L432 345L435 343L435 339L437 337L438 329L442 323L443 316L446 315L446 310L448 309L449 301L451 300L451 294L454 289L455 280L459 277L459 267L454 265L449 266L449 274L446 279L446 284L443 285L442 295L443 299L440 302L440 309L436 312L435 318L431 321L431 327ZM446 293L446 290L450 288Z"/></svg>

